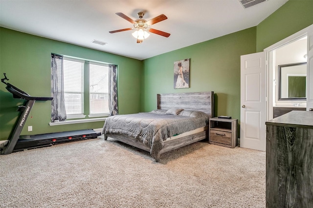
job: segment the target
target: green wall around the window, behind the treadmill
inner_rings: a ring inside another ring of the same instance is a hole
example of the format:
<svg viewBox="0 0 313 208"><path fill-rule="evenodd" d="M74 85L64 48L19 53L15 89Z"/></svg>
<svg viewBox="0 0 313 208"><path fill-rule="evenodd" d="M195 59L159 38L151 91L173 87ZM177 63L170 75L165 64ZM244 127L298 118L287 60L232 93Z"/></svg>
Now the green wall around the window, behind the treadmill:
<svg viewBox="0 0 313 208"><path fill-rule="evenodd" d="M137 113L141 109L142 61L0 28L0 77L32 96L50 96L51 53L103 61L118 65L119 113ZM130 82L129 80L132 80ZM0 83L0 139L7 139L18 117L14 99ZM49 126L51 101L35 102L22 135L102 128L104 122ZM27 132L27 126L33 126Z"/></svg>

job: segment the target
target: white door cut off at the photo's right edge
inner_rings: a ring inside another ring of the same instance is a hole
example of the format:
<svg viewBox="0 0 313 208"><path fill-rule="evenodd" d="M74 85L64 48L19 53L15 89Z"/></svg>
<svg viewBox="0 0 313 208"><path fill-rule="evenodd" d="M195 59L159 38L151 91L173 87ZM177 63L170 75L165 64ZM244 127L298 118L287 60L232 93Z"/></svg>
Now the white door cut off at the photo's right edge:
<svg viewBox="0 0 313 208"><path fill-rule="evenodd" d="M308 31L307 111L313 111L313 26Z"/></svg>

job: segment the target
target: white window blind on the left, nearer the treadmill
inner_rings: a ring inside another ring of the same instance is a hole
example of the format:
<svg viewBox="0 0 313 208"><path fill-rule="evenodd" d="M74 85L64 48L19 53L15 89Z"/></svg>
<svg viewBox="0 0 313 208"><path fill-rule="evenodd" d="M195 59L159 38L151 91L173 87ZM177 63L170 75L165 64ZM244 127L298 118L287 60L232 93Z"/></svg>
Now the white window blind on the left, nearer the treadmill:
<svg viewBox="0 0 313 208"><path fill-rule="evenodd" d="M84 61L64 57L64 98L67 115L84 113Z"/></svg>

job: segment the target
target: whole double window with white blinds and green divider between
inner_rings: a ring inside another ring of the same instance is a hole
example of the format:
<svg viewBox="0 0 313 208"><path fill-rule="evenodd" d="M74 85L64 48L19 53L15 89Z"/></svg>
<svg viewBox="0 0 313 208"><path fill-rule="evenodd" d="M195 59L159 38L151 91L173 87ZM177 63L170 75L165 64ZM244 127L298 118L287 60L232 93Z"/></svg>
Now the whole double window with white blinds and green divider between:
<svg viewBox="0 0 313 208"><path fill-rule="evenodd" d="M67 118L109 115L109 64L69 57L63 64Z"/></svg>

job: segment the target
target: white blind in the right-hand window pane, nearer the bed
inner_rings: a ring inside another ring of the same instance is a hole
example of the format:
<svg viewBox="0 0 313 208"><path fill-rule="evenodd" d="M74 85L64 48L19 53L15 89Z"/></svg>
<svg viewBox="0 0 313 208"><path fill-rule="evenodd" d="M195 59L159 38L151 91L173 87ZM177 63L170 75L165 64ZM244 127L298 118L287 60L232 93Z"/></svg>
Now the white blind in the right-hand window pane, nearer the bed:
<svg viewBox="0 0 313 208"><path fill-rule="evenodd" d="M110 114L109 112L109 65L89 63L89 113L90 115Z"/></svg>

